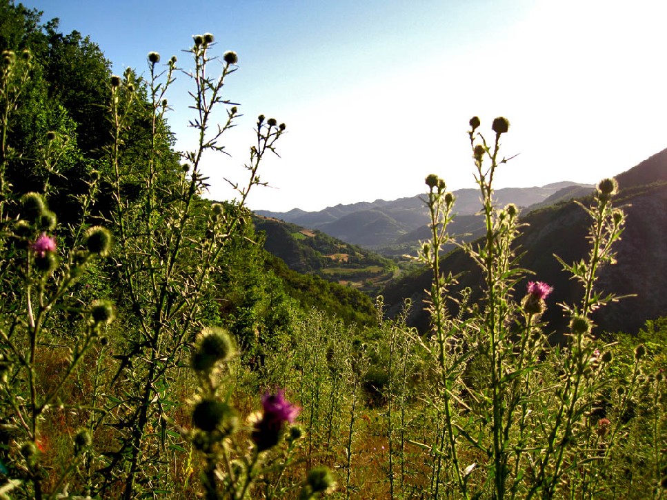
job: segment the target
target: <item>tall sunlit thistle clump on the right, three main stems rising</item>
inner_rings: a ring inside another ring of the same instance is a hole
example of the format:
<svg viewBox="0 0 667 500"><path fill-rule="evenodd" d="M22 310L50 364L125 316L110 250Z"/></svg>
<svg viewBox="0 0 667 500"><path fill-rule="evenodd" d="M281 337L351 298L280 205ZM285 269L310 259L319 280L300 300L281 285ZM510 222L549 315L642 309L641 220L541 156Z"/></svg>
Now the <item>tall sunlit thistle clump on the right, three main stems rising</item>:
<svg viewBox="0 0 667 500"><path fill-rule="evenodd" d="M479 126L481 121L472 118L468 135L486 236L461 245L484 279L475 308L457 304L448 292L457 277L442 272L440 250L452 240L446 227L455 200L442 179L426 178L431 239L418 259L433 272L432 335L421 345L435 362L437 397L430 401L441 418L441 432L436 443L421 446L435 460L433 498L451 488L461 498L552 498L564 477L570 478L570 491L575 491L573 472L595 460L586 444L595 431L587 422L608 383L604 370L610 356L608 346L591 334L590 313L618 299L603 296L595 283L599 268L614 263L613 243L621 236L624 212L611 204L617 191L613 179L599 183L593 207L581 204L593 221L590 254L579 263L561 264L581 283L584 297L578 306L561 304L570 317L568 343L551 348L540 318L552 288L530 281L521 295L519 284L529 272L520 266L516 243L521 232L519 210L511 204L497 208L493 199L495 172L511 159L500 156L509 121L504 117L493 121L490 142L479 133ZM458 306L457 317L449 314L446 299ZM611 447L616 434L609 437L606 446ZM441 468L449 472L441 475Z"/></svg>

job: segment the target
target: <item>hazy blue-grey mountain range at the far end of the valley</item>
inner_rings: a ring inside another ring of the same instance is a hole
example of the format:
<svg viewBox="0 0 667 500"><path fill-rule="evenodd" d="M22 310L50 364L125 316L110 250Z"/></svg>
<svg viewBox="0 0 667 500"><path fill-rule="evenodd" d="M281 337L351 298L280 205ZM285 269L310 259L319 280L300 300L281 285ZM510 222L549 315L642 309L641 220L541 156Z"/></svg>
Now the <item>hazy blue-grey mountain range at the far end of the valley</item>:
<svg viewBox="0 0 667 500"><path fill-rule="evenodd" d="M593 186L573 182L559 182L534 188L504 188L495 192L499 205L515 203L519 207L534 206L547 199L564 199L575 196L581 190L590 192ZM457 198L455 210L461 217L473 216L480 209L479 193L475 189L461 189L454 192ZM332 237L376 250L386 257L396 257L409 253L417 243L417 235L424 232L428 222L428 211L422 196L401 198L394 201L337 205L319 212L304 212L294 209L289 212L268 212L258 210L263 217L295 223L304 228L318 229ZM476 229L468 219L460 232ZM459 232L459 228L456 229ZM423 239L423 238L422 238Z"/></svg>

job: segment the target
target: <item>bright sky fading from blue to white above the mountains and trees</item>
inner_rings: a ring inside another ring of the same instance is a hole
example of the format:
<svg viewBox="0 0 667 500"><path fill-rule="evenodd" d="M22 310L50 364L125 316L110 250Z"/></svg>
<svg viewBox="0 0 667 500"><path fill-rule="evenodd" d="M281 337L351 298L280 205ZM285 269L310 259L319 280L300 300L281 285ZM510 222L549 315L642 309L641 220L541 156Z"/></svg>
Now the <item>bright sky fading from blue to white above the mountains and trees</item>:
<svg viewBox="0 0 667 500"><path fill-rule="evenodd" d="M286 123L252 210L321 210L475 187L468 121L510 121L496 188L595 183L667 148L663 0L25 0L89 35L113 70L146 54L192 68L192 35L239 55L225 97L243 117L206 158L207 197L243 183L259 114ZM188 78L168 95L192 148ZM221 115L222 117L223 115Z"/></svg>

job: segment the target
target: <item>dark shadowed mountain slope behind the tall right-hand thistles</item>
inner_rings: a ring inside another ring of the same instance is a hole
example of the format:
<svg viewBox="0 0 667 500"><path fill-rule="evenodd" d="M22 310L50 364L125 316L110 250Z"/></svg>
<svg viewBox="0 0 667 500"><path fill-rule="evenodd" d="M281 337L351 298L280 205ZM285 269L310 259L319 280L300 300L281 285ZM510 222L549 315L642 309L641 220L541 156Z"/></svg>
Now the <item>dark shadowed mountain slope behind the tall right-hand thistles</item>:
<svg viewBox="0 0 667 500"><path fill-rule="evenodd" d="M635 333L647 319L667 316L667 150L619 174L617 180L621 189L615 204L626 210L626 230L615 247L618 263L601 268L597 286L604 292L637 297L609 304L596 312L594 319L597 331ZM582 201L589 204L593 200L589 197ZM532 279L554 286L544 320L548 321L550 329L563 332L568 319L556 304L577 303L581 300L581 290L561 269L553 254L566 262L585 258L589 250L586 234L590 220L576 203L561 201L533 210L522 217L522 221L528 227L517 241L525 252L521 266L535 272ZM481 271L464 252L457 250L448 254L441 268L444 272L464 273L452 293L470 286L479 296L483 286ZM430 288L430 279L430 272L422 270L387 286L382 295L388 314L397 312L403 300L410 297L414 306L409 321L425 331L429 320L424 311L424 290ZM517 290L523 294L524 283L519 284Z"/></svg>

